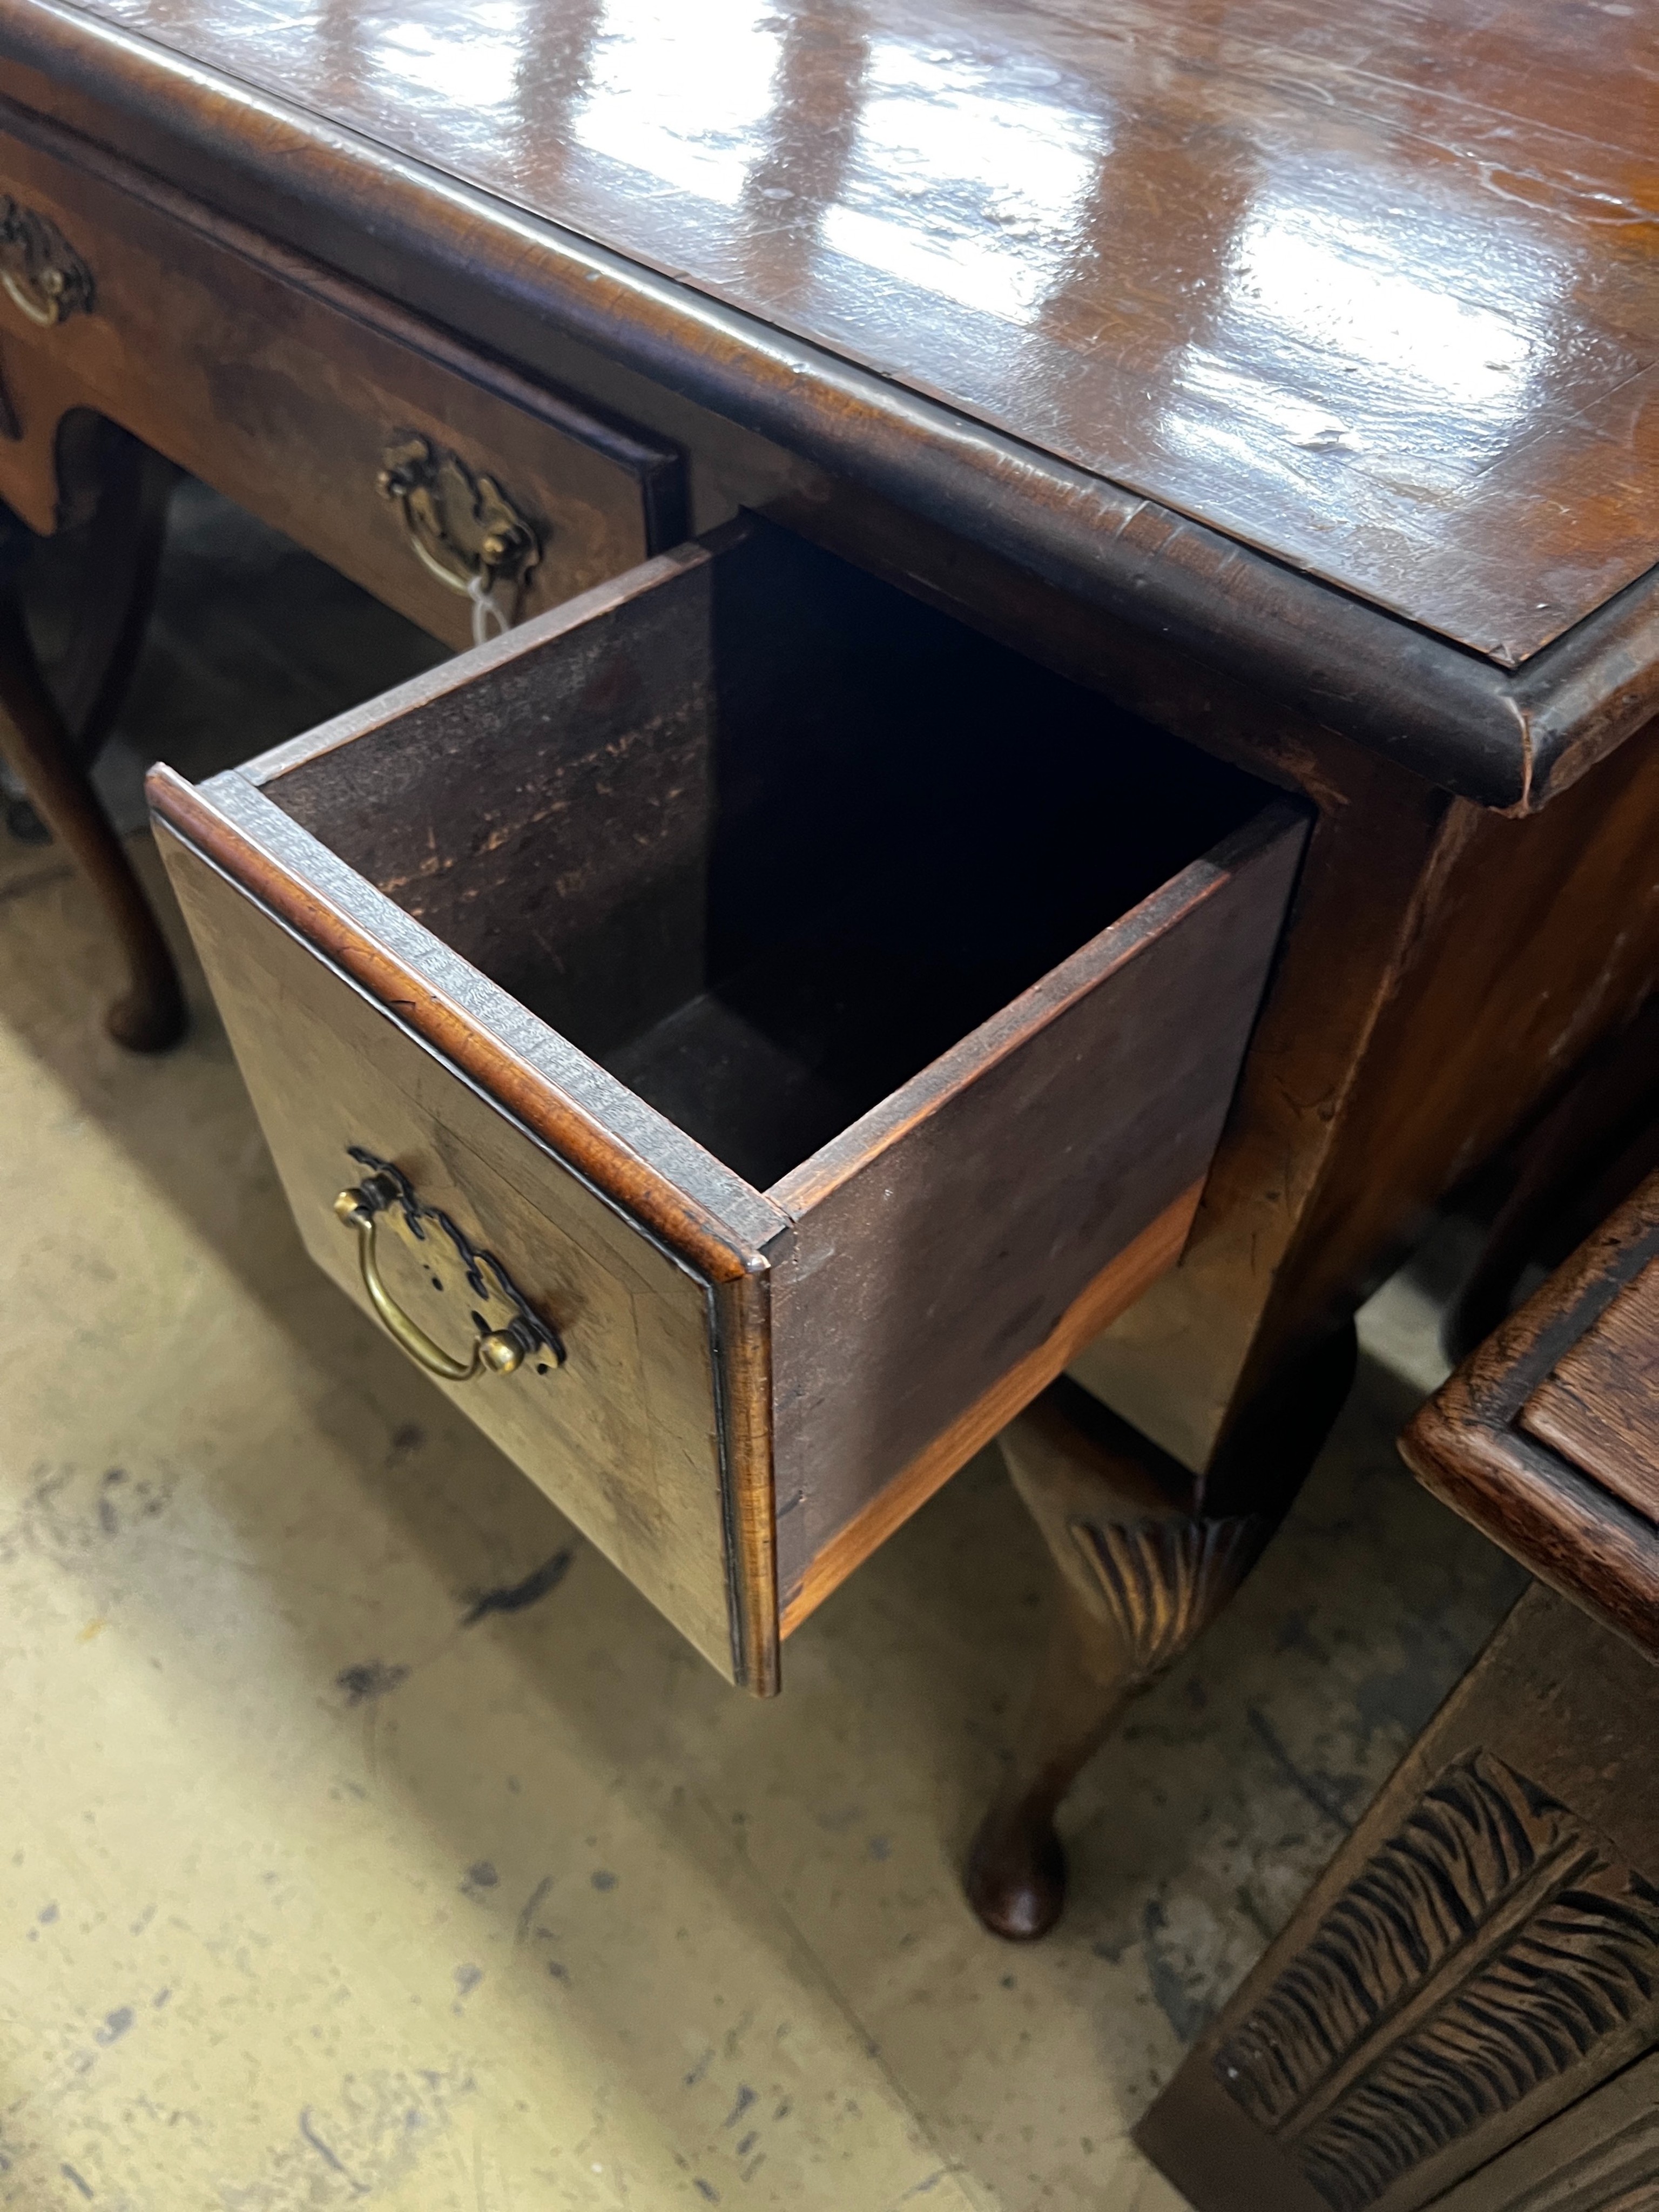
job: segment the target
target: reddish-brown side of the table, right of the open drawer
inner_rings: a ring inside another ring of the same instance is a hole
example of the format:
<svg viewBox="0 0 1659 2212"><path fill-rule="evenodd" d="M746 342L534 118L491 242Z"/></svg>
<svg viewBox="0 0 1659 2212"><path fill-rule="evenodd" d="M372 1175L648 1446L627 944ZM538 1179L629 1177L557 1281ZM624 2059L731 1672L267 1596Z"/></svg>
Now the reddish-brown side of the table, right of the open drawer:
<svg viewBox="0 0 1659 2212"><path fill-rule="evenodd" d="M1077 1367L1192 1469L1659 987L1659 732L1522 823L1365 765L1314 825L1181 1265Z"/></svg>

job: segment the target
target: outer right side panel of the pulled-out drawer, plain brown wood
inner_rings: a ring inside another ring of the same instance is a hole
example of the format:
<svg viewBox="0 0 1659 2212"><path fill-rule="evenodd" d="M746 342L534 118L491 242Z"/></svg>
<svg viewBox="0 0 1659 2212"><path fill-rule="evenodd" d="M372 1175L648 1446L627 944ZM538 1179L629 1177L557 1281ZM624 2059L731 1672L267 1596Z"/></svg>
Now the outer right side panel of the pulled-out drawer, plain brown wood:
<svg viewBox="0 0 1659 2212"><path fill-rule="evenodd" d="M772 1192L799 1214L772 1274L790 1621L825 1546L1203 1179L1303 841L1274 803Z"/></svg>

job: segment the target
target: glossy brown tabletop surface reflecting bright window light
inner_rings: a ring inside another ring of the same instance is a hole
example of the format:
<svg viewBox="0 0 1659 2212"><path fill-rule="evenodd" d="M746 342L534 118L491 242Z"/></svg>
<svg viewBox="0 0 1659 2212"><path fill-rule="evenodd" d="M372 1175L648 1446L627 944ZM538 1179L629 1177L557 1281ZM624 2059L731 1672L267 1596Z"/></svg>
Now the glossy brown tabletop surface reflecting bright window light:
<svg viewBox="0 0 1659 2212"><path fill-rule="evenodd" d="M1515 666L1659 562L1655 0L77 0Z"/></svg>

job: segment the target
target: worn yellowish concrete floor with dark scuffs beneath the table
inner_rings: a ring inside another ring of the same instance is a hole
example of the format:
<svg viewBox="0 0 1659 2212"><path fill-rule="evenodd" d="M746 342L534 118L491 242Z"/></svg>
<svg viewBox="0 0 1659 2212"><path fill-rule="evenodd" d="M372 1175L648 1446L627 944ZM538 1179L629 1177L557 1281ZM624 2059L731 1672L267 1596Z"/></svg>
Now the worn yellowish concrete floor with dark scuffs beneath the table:
<svg viewBox="0 0 1659 2212"><path fill-rule="evenodd" d="M294 557L190 529L113 783L429 653L305 564L241 697L204 611ZM1522 1584L1394 1455L1425 1292L1018 1951L958 1891L1046 1588L995 1455L743 1699L310 1270L199 978L155 1062L113 980L0 838L0 2205L1172 2212L1128 2128Z"/></svg>

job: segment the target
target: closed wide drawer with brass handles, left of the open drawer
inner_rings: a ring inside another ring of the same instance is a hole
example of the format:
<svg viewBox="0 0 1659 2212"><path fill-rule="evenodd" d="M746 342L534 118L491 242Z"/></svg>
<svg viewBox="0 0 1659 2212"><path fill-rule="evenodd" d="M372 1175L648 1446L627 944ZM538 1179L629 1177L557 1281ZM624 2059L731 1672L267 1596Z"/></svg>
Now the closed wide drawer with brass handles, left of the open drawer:
<svg viewBox="0 0 1659 2212"><path fill-rule="evenodd" d="M451 646L684 535L664 445L2 104L0 195L0 495L35 529L91 407Z"/></svg>

